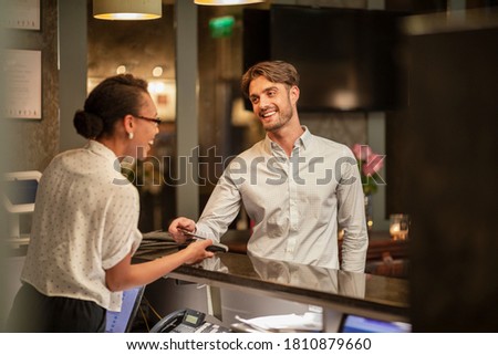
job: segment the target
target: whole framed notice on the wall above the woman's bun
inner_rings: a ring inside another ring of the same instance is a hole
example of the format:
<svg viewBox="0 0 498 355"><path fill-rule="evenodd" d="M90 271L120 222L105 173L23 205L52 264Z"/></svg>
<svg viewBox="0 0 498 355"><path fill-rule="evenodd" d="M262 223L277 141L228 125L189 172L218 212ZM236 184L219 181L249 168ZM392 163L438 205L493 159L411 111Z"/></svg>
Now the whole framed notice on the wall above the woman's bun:
<svg viewBox="0 0 498 355"><path fill-rule="evenodd" d="M41 51L6 50L6 106L9 118L42 117Z"/></svg>

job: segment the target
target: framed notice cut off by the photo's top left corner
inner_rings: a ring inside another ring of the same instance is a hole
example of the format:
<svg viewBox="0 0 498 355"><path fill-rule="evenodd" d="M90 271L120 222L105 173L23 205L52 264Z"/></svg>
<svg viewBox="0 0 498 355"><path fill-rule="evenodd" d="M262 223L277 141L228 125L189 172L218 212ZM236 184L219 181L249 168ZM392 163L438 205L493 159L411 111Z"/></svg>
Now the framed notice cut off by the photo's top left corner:
<svg viewBox="0 0 498 355"><path fill-rule="evenodd" d="M4 27L18 30L40 30L40 0L4 0Z"/></svg>

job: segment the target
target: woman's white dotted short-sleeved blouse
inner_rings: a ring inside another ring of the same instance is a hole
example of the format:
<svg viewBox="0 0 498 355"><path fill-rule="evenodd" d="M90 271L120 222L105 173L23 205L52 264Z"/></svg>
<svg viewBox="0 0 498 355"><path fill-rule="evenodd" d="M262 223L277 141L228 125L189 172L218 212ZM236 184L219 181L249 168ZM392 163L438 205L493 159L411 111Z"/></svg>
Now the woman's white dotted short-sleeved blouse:
<svg viewBox="0 0 498 355"><path fill-rule="evenodd" d="M106 288L105 270L138 248L138 192L112 150L90 140L61 153L40 181L21 280L49 296L120 311L122 292Z"/></svg>

